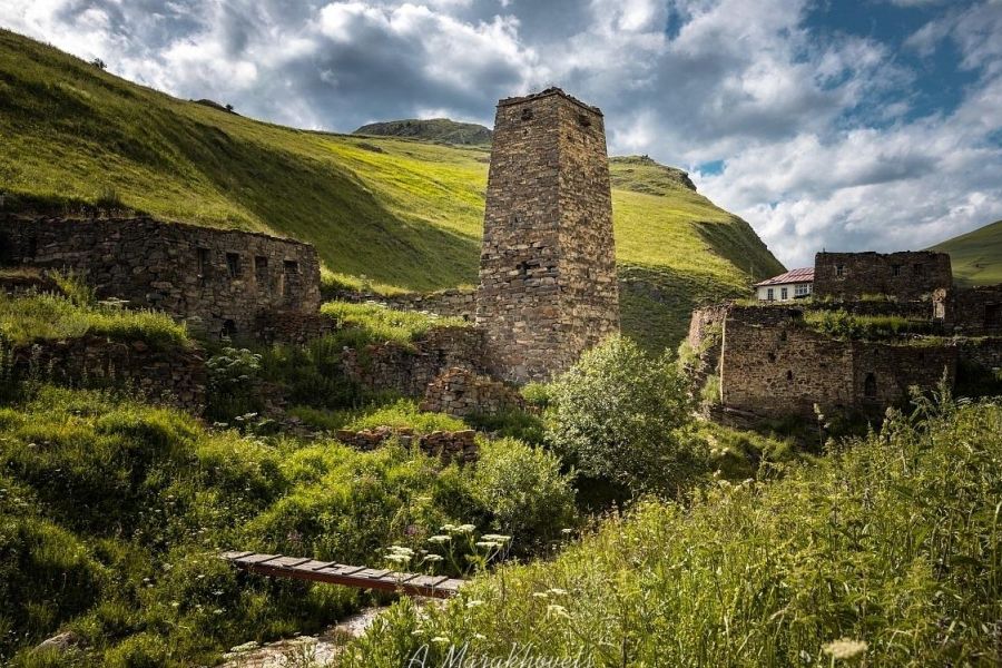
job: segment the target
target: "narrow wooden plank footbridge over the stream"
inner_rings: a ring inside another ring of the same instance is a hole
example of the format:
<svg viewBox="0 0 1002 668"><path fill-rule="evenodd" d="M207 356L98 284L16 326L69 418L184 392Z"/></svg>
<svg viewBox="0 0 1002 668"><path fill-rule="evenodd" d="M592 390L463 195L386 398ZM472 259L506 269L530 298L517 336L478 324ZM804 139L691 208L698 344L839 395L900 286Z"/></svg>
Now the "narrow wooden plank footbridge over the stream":
<svg viewBox="0 0 1002 668"><path fill-rule="evenodd" d="M317 561L306 557L262 554L258 552L224 552L220 558L252 573L276 578L296 578L313 582L343 584L358 589L397 591L407 596L449 598L455 596L463 580L443 576L422 576L380 570L364 566L345 566L334 561Z"/></svg>

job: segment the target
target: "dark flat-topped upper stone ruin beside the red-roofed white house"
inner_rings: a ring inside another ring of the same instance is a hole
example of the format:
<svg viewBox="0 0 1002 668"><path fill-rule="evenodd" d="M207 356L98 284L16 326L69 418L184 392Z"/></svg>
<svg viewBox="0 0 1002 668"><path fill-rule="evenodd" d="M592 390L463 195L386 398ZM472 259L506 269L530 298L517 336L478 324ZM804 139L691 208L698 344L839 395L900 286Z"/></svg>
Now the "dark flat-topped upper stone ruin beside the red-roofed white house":
<svg viewBox="0 0 1002 668"><path fill-rule="evenodd" d="M815 299L852 301L881 294L916 302L952 285L946 253L818 253L814 258Z"/></svg>

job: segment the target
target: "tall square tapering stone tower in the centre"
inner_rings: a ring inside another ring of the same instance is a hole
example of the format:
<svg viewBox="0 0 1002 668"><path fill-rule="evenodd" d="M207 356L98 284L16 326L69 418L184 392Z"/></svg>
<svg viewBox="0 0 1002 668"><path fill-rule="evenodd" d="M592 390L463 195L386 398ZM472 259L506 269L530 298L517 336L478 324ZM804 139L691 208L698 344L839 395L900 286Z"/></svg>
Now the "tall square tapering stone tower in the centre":
<svg viewBox="0 0 1002 668"><path fill-rule="evenodd" d="M491 371L517 383L619 331L602 112L559 88L498 104L477 323Z"/></svg>

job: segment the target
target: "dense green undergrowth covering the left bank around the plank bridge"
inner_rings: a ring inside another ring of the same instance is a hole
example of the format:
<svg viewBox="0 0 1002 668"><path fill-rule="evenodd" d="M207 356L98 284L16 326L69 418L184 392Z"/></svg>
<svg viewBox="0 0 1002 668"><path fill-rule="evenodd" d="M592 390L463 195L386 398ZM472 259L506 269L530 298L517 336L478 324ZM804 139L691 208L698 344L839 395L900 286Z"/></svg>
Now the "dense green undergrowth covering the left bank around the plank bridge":
<svg viewBox="0 0 1002 668"><path fill-rule="evenodd" d="M475 470L443 468L399 445L246 438L43 386L0 406L0 662L210 665L248 640L316 632L369 600L238 574L217 558L224 549L380 567L390 544L418 552L448 523L517 523L524 554L573 521L559 462L518 442L482 443ZM30 649L60 629L85 649Z"/></svg>

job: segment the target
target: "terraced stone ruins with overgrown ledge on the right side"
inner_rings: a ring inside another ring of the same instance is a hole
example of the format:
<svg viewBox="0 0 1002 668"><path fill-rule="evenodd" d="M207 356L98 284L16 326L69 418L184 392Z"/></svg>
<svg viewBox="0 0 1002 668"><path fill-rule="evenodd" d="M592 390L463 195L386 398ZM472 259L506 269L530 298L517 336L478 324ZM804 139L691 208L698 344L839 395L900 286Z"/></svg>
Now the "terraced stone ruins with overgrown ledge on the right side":
<svg viewBox="0 0 1002 668"><path fill-rule="evenodd" d="M807 313L833 311L926 333L854 341L807 326ZM811 419L815 405L877 415L913 386L952 386L963 365L1002 366L1002 286L954 288L945 253L818 253L813 302L697 310L687 344L694 389L717 379L710 410L725 421Z"/></svg>

